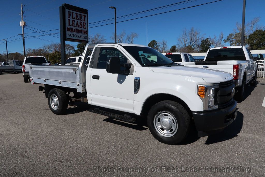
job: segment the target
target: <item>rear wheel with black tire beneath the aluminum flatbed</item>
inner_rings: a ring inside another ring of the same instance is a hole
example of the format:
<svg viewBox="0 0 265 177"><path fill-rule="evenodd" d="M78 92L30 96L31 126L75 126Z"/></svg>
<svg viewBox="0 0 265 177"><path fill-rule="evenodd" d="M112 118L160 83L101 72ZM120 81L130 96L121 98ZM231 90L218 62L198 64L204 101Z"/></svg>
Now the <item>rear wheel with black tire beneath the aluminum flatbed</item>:
<svg viewBox="0 0 265 177"><path fill-rule="evenodd" d="M55 102L52 102L53 98L57 98L57 100ZM56 104L57 101L58 104ZM63 114L68 106L68 99L65 92L60 89L51 89L48 94L48 105L51 109L51 112L53 112L54 114ZM55 105L57 105L57 108Z"/></svg>

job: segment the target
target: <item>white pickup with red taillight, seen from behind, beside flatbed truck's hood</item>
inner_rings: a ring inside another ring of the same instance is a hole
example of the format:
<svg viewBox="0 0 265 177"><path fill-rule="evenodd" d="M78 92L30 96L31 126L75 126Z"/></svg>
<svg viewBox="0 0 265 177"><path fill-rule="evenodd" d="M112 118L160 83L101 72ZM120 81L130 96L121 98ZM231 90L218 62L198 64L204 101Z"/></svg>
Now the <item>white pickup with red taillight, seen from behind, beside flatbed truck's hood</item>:
<svg viewBox="0 0 265 177"><path fill-rule="evenodd" d="M257 82L257 64L249 49L244 46L216 47L207 51L204 61L189 62L185 66L217 69L233 75L236 86L236 99L245 98L247 84Z"/></svg>

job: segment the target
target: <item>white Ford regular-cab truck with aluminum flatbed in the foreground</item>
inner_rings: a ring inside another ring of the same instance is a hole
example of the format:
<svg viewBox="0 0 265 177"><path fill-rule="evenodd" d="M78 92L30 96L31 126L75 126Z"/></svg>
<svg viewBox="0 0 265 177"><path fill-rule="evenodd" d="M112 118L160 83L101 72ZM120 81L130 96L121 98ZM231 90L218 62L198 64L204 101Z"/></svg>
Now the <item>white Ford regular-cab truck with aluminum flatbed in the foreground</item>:
<svg viewBox="0 0 265 177"><path fill-rule="evenodd" d="M44 84L39 91L53 113L81 101L112 119L147 117L152 135L166 144L181 142L193 121L198 136L208 136L236 119L231 74L178 65L144 45L87 44L79 66L30 65L29 74L31 84Z"/></svg>

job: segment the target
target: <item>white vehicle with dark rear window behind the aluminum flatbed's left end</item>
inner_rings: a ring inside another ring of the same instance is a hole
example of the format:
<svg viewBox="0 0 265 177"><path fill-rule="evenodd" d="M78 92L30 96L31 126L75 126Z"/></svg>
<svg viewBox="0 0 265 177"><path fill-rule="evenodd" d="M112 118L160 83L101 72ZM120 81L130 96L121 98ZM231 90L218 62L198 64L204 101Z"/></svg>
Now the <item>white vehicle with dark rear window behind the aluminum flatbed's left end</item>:
<svg viewBox="0 0 265 177"><path fill-rule="evenodd" d="M24 82L29 82L29 66L30 65L49 65L50 61L47 61L43 56L31 56L25 57L22 70Z"/></svg>

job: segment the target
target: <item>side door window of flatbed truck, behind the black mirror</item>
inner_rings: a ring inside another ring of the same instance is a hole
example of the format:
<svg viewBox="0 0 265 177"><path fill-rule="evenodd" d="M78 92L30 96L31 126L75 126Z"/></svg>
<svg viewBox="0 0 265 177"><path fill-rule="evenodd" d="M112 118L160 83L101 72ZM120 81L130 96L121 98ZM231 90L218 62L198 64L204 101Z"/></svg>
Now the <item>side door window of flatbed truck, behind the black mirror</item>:
<svg viewBox="0 0 265 177"><path fill-rule="evenodd" d="M119 57L121 64L128 62L128 59L116 48L101 48L99 53L98 60L98 69L106 69L106 63L111 57ZM130 63L130 62L129 62ZM124 67L121 67L121 71L125 70Z"/></svg>

